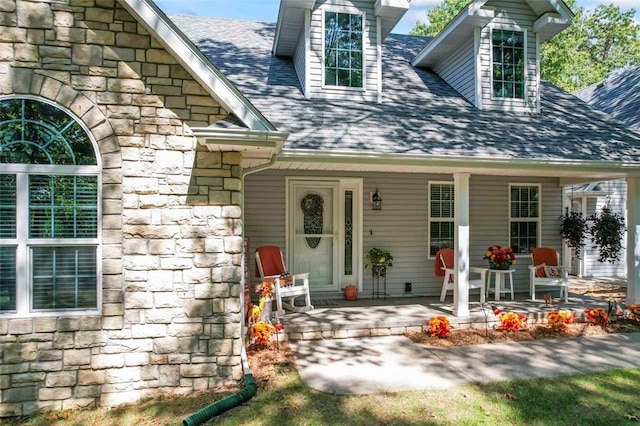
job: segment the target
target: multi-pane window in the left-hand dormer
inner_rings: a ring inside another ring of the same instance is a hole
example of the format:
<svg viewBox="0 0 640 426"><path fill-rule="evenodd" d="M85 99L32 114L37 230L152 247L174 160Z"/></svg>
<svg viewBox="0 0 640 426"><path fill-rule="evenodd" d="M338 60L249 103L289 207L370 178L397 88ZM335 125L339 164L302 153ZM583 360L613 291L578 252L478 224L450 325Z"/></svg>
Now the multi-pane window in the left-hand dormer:
<svg viewBox="0 0 640 426"><path fill-rule="evenodd" d="M363 87L361 14L324 13L325 86Z"/></svg>

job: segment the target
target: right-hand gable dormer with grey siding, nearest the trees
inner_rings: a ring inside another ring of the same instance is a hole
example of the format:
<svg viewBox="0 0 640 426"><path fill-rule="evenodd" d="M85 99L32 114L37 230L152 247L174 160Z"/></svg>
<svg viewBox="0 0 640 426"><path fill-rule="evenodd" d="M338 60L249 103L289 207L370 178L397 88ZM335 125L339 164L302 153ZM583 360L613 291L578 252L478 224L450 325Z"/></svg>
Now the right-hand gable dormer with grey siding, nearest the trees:
<svg viewBox="0 0 640 426"><path fill-rule="evenodd" d="M539 47L571 24L562 0L474 0L413 59L478 109L538 112Z"/></svg>

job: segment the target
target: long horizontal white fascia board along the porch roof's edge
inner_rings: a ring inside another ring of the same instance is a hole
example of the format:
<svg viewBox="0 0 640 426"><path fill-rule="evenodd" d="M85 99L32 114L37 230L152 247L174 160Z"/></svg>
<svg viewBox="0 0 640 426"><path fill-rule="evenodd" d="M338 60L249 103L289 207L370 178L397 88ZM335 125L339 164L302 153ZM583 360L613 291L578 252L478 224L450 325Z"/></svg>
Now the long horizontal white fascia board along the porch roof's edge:
<svg viewBox="0 0 640 426"><path fill-rule="evenodd" d="M495 157L453 157L446 155L421 155L421 154L380 154L363 152L334 151L331 153L318 153L316 150L285 150L278 156L278 161L285 162L322 162L322 163L358 163L358 164L388 164L388 165L423 165L425 167L468 167L497 169L497 170L521 170L528 168L572 169L576 172L580 169L588 172L632 174L640 176L640 163L615 162L591 160L559 160L559 159L514 159ZM604 180L598 178L598 180Z"/></svg>

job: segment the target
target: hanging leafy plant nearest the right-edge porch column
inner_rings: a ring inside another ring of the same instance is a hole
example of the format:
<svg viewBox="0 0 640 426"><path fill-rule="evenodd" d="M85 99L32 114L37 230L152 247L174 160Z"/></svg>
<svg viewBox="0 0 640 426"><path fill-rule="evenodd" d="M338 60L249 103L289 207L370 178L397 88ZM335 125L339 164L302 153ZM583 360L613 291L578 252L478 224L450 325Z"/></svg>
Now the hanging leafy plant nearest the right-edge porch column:
<svg viewBox="0 0 640 426"><path fill-rule="evenodd" d="M614 263L619 260L622 253L622 238L627 230L622 215L604 206L600 213L592 214L589 219L593 221L591 237L600 249L598 262Z"/></svg>

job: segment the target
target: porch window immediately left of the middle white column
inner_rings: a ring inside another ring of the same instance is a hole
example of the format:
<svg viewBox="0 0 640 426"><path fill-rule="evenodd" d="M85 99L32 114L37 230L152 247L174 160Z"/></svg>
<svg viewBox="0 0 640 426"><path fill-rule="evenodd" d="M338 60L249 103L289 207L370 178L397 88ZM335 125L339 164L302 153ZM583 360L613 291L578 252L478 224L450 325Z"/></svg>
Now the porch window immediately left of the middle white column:
<svg viewBox="0 0 640 426"><path fill-rule="evenodd" d="M454 244L453 183L429 183L429 256Z"/></svg>

